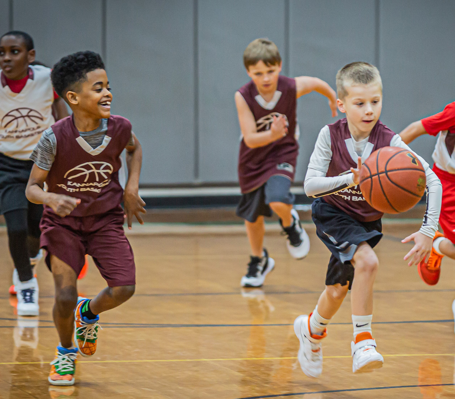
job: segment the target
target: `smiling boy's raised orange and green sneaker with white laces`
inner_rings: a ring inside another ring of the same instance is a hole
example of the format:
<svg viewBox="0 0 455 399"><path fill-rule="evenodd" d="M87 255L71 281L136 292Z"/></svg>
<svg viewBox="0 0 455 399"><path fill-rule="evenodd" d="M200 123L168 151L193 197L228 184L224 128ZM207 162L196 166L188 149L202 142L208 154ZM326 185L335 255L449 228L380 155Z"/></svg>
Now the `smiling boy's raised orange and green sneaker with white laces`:
<svg viewBox="0 0 455 399"><path fill-rule="evenodd" d="M82 317L84 306L88 306L88 298L77 297L77 305L74 311L74 342L79 353L88 358L96 352L96 340L98 339L99 316L90 320Z"/></svg>

